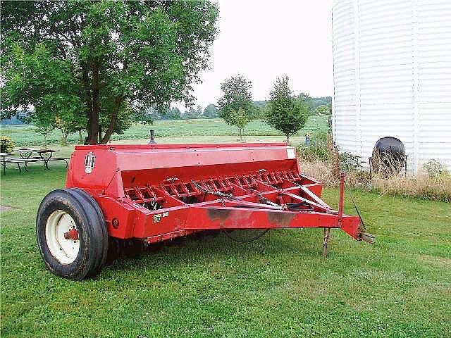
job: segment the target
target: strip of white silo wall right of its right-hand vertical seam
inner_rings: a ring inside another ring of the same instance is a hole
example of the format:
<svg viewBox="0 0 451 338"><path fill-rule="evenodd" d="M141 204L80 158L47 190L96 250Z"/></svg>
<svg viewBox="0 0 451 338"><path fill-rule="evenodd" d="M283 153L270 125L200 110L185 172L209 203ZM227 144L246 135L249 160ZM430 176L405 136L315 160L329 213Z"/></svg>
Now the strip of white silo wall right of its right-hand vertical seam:
<svg viewBox="0 0 451 338"><path fill-rule="evenodd" d="M418 165L451 168L451 1L417 1Z"/></svg>

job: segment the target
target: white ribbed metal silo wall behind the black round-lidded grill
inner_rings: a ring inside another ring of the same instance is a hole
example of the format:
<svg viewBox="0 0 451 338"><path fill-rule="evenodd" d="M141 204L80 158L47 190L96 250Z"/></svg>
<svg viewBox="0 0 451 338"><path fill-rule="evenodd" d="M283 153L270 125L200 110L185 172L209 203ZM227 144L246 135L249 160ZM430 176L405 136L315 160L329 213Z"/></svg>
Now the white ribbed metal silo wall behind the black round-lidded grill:
<svg viewBox="0 0 451 338"><path fill-rule="evenodd" d="M367 161L376 141L400 139L409 169L451 168L451 0L333 4L333 135Z"/></svg>

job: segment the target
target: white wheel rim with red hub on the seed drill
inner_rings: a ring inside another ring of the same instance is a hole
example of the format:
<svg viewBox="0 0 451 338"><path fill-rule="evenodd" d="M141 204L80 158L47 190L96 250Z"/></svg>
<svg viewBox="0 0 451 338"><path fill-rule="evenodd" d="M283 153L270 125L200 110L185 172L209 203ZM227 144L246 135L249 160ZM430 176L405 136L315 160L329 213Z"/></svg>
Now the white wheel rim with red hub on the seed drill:
<svg viewBox="0 0 451 338"><path fill-rule="evenodd" d="M45 225L47 247L54 258L61 264L75 261L80 251L80 239L66 239L64 234L78 228L75 221L66 211L57 210L49 215Z"/></svg>

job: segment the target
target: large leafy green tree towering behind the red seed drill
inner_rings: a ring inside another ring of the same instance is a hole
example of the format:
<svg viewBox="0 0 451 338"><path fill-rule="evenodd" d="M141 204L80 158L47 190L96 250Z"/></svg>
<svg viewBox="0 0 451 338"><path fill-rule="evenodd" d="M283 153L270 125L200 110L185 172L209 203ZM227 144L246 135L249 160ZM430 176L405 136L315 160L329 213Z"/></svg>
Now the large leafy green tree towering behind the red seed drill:
<svg viewBox="0 0 451 338"><path fill-rule="evenodd" d="M210 1L1 1L2 108L82 115L106 143L132 113L192 101L217 19Z"/></svg>

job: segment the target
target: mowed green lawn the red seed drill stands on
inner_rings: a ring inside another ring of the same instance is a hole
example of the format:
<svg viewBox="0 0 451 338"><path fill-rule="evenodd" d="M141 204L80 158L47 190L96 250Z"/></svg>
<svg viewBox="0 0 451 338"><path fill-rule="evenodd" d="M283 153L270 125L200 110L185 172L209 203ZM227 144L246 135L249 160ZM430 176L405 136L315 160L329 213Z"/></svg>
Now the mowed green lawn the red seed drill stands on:
<svg viewBox="0 0 451 338"><path fill-rule="evenodd" d="M51 275L39 202L63 165L1 176L1 337L451 337L451 205L354 191L376 244L333 230L224 234L115 261L94 280ZM338 191L323 198L336 205ZM354 213L347 196L345 211Z"/></svg>

